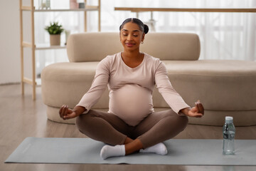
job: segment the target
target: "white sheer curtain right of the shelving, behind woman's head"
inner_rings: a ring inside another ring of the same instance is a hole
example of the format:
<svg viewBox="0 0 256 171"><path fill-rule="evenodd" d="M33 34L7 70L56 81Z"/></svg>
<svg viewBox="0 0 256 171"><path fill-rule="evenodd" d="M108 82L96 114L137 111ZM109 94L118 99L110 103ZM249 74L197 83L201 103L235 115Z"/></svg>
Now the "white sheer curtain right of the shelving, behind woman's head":
<svg viewBox="0 0 256 171"><path fill-rule="evenodd" d="M105 8L106 6L106 8ZM178 7L178 8L242 8L256 7L255 0L129 0L102 1L102 31L118 31L129 11L113 11L119 7ZM149 12L139 13L146 22ZM156 32L198 33L201 39L201 59L235 59L256 61L256 14L154 12Z"/></svg>

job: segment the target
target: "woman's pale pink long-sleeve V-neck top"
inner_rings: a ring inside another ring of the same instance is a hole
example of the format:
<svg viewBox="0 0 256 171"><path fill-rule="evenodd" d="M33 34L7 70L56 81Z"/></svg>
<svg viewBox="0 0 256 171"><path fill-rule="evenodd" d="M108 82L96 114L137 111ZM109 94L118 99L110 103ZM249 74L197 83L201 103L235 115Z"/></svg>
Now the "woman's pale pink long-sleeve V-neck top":
<svg viewBox="0 0 256 171"><path fill-rule="evenodd" d="M108 86L109 112L134 126L154 112L152 93L155 85L175 113L189 107L171 86L166 67L159 58L144 53L142 63L130 68L122 60L121 53L116 53L97 65L92 86L78 105L90 110Z"/></svg>

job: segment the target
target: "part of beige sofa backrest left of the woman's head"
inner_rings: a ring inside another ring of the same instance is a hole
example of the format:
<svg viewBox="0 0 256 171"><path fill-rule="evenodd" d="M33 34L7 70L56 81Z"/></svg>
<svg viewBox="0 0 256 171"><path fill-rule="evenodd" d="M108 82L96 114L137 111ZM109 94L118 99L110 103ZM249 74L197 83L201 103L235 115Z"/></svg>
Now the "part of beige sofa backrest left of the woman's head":
<svg viewBox="0 0 256 171"><path fill-rule="evenodd" d="M119 33L76 33L68 36L70 62L101 61L119 51L122 51Z"/></svg>

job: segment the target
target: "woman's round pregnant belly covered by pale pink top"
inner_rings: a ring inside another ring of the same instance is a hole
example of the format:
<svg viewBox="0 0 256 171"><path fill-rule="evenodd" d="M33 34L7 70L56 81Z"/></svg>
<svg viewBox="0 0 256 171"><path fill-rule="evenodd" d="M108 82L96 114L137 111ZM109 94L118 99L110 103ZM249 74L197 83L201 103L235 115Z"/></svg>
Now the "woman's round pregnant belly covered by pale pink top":
<svg viewBox="0 0 256 171"><path fill-rule="evenodd" d="M110 92L110 112L135 126L153 111L151 92L138 85L126 85Z"/></svg>

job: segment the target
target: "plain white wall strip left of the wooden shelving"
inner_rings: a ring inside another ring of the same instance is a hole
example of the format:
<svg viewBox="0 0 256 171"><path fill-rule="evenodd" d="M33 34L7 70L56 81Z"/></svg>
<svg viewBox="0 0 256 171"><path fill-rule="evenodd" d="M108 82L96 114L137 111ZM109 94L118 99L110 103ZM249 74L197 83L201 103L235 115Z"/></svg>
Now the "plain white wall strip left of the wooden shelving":
<svg viewBox="0 0 256 171"><path fill-rule="evenodd" d="M18 0L0 0L0 84L21 82Z"/></svg>

